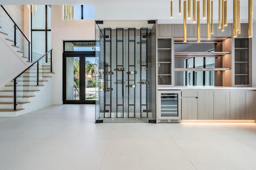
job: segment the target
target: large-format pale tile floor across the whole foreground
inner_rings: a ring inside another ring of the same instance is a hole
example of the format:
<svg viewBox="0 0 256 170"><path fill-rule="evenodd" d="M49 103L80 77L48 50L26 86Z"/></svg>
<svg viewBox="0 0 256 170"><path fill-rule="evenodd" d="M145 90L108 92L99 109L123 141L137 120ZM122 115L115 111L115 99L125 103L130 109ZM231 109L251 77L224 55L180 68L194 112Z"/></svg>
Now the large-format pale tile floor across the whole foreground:
<svg viewBox="0 0 256 170"><path fill-rule="evenodd" d="M94 123L94 105L0 117L0 170L255 170L256 123Z"/></svg>

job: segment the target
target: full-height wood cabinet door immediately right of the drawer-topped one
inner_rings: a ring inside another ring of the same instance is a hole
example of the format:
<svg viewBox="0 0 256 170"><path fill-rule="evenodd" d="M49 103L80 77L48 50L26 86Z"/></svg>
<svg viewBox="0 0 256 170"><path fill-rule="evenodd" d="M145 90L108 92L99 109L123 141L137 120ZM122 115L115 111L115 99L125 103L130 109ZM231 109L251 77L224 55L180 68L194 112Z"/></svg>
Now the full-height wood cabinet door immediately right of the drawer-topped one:
<svg viewBox="0 0 256 170"><path fill-rule="evenodd" d="M213 91L198 91L198 120L214 119Z"/></svg>

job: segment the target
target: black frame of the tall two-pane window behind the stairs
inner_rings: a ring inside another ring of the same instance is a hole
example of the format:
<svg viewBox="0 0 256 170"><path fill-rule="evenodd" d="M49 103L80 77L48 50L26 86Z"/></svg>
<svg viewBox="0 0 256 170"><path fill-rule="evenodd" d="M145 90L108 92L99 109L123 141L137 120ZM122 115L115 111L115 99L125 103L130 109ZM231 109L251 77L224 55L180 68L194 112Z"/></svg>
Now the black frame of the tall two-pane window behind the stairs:
<svg viewBox="0 0 256 170"><path fill-rule="evenodd" d="M47 47L48 47L48 39L47 39L47 37L48 37L48 31L51 31L51 29L47 29L47 27L48 27L48 25L47 25L47 20L48 20L48 18L47 18L47 6L49 6L49 5L45 5L45 29L32 29L32 17L33 17L33 15L32 15L32 13L30 13L30 25L31 25L31 61L33 61L32 59L33 59L33 53L32 53L32 47L33 47L33 41L32 41L32 32L33 31L45 31L45 51L47 52ZM48 63L48 58L46 58L45 59L46 61L46 63Z"/></svg>

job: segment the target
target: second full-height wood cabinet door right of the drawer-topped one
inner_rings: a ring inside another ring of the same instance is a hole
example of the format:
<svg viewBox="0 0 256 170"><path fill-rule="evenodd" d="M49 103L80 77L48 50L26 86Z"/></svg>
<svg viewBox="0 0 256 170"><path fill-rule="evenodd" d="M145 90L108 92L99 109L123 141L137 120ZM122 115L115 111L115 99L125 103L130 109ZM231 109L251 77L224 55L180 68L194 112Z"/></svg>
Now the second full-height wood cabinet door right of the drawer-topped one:
<svg viewBox="0 0 256 170"><path fill-rule="evenodd" d="M214 91L214 120L230 119L230 92Z"/></svg>

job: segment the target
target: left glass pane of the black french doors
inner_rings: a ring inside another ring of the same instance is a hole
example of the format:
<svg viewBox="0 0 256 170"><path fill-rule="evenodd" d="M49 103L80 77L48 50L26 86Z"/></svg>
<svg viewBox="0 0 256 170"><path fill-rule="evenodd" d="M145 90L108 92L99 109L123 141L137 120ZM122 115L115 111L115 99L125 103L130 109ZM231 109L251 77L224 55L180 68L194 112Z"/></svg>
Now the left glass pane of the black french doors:
<svg viewBox="0 0 256 170"><path fill-rule="evenodd" d="M66 100L80 100L79 69L79 57L66 57Z"/></svg>

